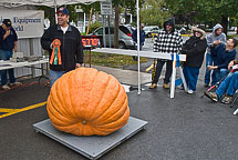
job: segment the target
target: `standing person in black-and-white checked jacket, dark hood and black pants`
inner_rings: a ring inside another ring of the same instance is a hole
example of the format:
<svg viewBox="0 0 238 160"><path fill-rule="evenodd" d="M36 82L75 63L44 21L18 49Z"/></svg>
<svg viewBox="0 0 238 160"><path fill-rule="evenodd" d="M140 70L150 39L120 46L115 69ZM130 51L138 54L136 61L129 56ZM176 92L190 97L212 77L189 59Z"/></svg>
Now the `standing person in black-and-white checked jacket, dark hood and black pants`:
<svg viewBox="0 0 238 160"><path fill-rule="evenodd" d="M155 37L154 42L154 52L161 53L179 53L183 44L182 36L178 31L175 30L175 20L174 18L169 18L164 22L164 30L158 32L158 36ZM169 89L169 81L173 71L173 61L157 59L155 76L152 78L152 84L149 89L155 89L157 87L158 79L161 77L162 69L166 63L166 73L163 83L164 89Z"/></svg>

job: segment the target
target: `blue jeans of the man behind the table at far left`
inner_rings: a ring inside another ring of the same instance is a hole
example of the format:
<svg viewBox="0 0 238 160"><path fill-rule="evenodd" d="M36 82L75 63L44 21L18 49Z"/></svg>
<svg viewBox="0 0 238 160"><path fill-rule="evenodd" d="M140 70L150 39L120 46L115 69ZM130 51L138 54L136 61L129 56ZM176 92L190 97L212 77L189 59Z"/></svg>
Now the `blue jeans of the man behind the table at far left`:
<svg viewBox="0 0 238 160"><path fill-rule="evenodd" d="M10 60L11 57L12 57L12 51L0 50L0 60ZM1 72L1 86L4 86L8 83L7 72L9 74L10 83L15 82L14 69L1 70L0 72Z"/></svg>

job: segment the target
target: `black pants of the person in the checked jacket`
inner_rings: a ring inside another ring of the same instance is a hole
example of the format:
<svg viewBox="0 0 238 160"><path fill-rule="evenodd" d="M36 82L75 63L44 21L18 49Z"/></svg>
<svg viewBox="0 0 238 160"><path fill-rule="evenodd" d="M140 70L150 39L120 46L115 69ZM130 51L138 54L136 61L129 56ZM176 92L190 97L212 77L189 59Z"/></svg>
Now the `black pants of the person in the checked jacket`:
<svg viewBox="0 0 238 160"><path fill-rule="evenodd" d="M161 59L157 59L155 78L154 78L152 83L158 82L158 79L159 79L161 73L162 73L162 69L163 69L165 63L166 63L166 72L165 72L164 83L168 83L170 81L169 79L172 77L172 71L173 71L173 61L172 60L162 61Z"/></svg>

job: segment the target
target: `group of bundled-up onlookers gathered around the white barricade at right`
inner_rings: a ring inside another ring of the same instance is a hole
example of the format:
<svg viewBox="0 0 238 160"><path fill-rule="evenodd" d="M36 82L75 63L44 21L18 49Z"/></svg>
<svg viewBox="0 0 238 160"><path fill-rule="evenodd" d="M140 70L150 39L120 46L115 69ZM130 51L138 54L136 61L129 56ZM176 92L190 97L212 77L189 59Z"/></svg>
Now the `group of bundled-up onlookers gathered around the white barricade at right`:
<svg viewBox="0 0 238 160"><path fill-rule="evenodd" d="M154 52L186 54L183 73L189 94L196 91L199 70L207 52L204 87L209 88L218 82L219 86L215 92L206 91L205 96L213 101L220 100L223 103L231 103L232 96L238 90L238 72L235 69L230 71L238 67L238 61L235 60L237 43L235 38L227 40L219 23L214 27L213 32L208 36L206 36L203 26L192 28L192 37L183 43L180 33L175 30L174 19L170 18L164 22L164 30L161 30L155 38ZM157 87L165 63L166 72L163 88L169 89L173 62L163 59L157 59L156 71L149 89ZM177 88L184 89L184 84Z"/></svg>

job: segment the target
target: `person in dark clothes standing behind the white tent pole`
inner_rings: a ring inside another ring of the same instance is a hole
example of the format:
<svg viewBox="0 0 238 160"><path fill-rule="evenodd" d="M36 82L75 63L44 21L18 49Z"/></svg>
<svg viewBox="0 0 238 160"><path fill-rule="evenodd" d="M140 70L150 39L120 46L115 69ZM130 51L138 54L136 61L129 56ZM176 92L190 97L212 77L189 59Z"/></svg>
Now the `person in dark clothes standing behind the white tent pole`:
<svg viewBox="0 0 238 160"><path fill-rule="evenodd" d="M139 50L142 50L142 47L145 43L145 31L143 29L144 29L144 23L141 23L139 24ZM135 50L137 50L137 28L133 31L132 39L133 39ZM137 61L137 57L133 56L133 59Z"/></svg>

